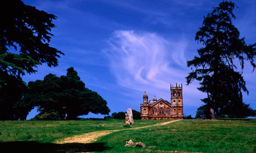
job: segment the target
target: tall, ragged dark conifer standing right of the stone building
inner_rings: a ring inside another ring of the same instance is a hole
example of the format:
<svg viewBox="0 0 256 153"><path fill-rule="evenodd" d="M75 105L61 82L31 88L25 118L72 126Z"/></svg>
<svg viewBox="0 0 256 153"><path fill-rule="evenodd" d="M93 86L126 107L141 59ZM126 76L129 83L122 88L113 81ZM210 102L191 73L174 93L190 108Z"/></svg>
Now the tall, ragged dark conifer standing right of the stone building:
<svg viewBox="0 0 256 153"><path fill-rule="evenodd" d="M256 43L247 45L244 38L239 38L240 33L232 24L234 7L233 2L223 1L204 17L203 26L195 37L204 47L198 49L199 57L195 56L187 62L192 69L186 77L187 84L194 79L200 82L198 89L208 95L202 101L209 113L206 116L211 119L224 113L224 110L234 113L235 105L243 107L242 113L252 111L243 103L242 92L248 94L248 90L242 72L245 61L250 62L253 70L256 67ZM242 72L235 71L238 69L235 60L239 61Z"/></svg>

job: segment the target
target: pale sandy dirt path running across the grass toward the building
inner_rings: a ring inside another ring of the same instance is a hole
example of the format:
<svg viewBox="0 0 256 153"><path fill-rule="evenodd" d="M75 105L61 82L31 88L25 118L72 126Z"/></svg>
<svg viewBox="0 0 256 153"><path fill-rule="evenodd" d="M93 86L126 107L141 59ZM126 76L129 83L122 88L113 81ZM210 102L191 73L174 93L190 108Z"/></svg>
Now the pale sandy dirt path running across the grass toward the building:
<svg viewBox="0 0 256 153"><path fill-rule="evenodd" d="M137 129L142 129L142 128L146 128L146 127L166 125L166 124L174 123L176 121L180 121L180 120L171 120L171 121L166 121L164 123L157 123L157 124L154 124L154 125L134 127L132 129L106 130L106 131L89 132L89 133L82 134L82 135L76 135L76 136L72 136L72 137L67 137L66 139L58 140L56 143L57 144L65 144L65 143L74 143L74 142L76 142L76 143L85 143L86 144L86 143L90 143L92 141L96 141L98 137L104 136L104 135L107 135L107 134L111 134L112 132L124 131L124 130L137 130Z"/></svg>

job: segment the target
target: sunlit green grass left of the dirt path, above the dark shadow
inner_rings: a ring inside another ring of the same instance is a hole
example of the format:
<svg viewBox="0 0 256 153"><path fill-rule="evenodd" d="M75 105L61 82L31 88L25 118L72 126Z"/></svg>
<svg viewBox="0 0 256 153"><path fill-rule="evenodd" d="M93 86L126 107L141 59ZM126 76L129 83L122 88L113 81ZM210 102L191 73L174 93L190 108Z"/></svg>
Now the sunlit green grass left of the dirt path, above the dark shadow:
<svg viewBox="0 0 256 153"><path fill-rule="evenodd" d="M156 124L161 121L135 120L132 127ZM99 126L99 124L106 124ZM82 120L82 121L0 121L0 142L40 141L53 142L72 135L100 130L127 129L124 120Z"/></svg>

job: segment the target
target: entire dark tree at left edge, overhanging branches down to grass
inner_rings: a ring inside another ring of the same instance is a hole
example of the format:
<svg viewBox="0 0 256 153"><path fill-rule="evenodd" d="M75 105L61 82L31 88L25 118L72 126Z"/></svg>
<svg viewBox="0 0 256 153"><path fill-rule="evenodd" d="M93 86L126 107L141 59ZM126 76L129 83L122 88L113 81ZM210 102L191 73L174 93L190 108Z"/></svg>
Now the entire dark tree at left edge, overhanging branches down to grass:
<svg viewBox="0 0 256 153"><path fill-rule="evenodd" d="M43 63L56 67L57 58L63 54L48 44L56 16L22 1L1 1L0 17L0 118L20 119L23 110L19 108L24 107L17 105L16 115L13 107L27 90L21 76L35 73L35 68Z"/></svg>

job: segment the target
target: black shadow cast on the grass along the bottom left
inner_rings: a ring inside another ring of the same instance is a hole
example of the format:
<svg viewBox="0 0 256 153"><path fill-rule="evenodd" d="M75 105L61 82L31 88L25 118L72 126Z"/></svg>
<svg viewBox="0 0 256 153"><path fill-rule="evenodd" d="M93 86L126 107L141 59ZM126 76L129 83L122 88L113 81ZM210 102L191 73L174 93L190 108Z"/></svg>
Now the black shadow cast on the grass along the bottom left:
<svg viewBox="0 0 256 153"><path fill-rule="evenodd" d="M102 152L111 150L111 147L106 147L105 143L68 143L68 144L53 144L41 143L37 141L15 141L15 142L0 142L0 152Z"/></svg>

